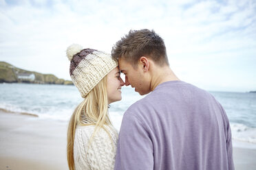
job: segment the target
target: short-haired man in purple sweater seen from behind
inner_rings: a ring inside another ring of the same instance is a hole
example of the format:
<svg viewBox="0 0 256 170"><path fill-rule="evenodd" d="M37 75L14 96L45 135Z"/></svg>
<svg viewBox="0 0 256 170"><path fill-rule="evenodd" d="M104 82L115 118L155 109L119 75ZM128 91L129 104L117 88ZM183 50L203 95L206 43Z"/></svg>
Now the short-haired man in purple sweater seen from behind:
<svg viewBox="0 0 256 170"><path fill-rule="evenodd" d="M224 109L205 90L178 79L158 34L130 31L112 57L126 86L140 95L151 92L124 114L115 169L234 169Z"/></svg>

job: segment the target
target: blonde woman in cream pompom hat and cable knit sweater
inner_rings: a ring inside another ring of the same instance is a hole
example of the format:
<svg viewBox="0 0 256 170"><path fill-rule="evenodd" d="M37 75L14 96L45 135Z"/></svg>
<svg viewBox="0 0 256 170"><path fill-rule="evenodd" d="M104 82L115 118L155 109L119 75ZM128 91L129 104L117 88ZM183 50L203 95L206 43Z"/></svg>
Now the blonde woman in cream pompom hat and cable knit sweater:
<svg viewBox="0 0 256 170"><path fill-rule="evenodd" d="M83 101L74 110L67 130L70 169L114 169L118 133L108 105L122 99L118 62L102 51L67 48L70 76Z"/></svg>

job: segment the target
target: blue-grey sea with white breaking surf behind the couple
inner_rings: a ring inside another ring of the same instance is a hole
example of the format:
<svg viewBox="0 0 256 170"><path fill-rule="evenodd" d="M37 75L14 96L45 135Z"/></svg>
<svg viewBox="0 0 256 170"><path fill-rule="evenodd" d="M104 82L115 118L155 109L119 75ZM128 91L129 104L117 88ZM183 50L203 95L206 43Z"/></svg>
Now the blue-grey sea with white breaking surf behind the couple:
<svg viewBox="0 0 256 170"><path fill-rule="evenodd" d="M256 93L209 91L222 104L231 123L235 145L256 148ZM131 87L122 87L122 100L110 105L113 125L120 129L122 115L142 99ZM50 84L0 84L0 109L7 112L36 114L39 119L68 122L82 101L75 86ZM237 144L238 143L238 144ZM242 143L242 144L241 144Z"/></svg>

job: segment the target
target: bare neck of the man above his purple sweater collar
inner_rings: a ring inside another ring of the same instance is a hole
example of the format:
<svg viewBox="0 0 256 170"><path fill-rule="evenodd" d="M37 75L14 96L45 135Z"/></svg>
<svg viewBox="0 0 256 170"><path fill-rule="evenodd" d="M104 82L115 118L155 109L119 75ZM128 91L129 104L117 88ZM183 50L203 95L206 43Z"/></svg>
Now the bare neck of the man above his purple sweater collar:
<svg viewBox="0 0 256 170"><path fill-rule="evenodd" d="M151 73L150 89L153 91L156 86L164 82L180 81L179 78L173 73L169 66L156 67Z"/></svg>

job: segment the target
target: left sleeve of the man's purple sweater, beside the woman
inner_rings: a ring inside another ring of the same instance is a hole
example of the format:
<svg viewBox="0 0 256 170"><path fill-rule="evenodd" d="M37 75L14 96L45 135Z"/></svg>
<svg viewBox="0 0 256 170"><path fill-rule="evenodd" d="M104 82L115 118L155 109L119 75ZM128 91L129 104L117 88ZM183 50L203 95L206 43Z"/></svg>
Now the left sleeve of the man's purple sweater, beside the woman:
<svg viewBox="0 0 256 170"><path fill-rule="evenodd" d="M116 152L116 170L153 169L153 144L145 125L125 112Z"/></svg>

